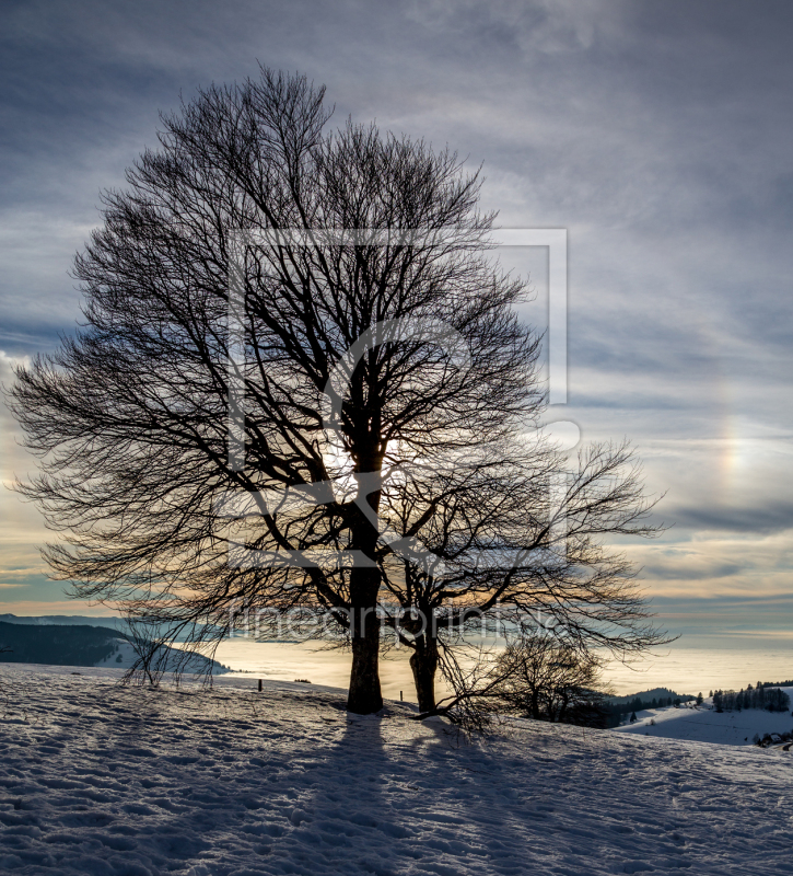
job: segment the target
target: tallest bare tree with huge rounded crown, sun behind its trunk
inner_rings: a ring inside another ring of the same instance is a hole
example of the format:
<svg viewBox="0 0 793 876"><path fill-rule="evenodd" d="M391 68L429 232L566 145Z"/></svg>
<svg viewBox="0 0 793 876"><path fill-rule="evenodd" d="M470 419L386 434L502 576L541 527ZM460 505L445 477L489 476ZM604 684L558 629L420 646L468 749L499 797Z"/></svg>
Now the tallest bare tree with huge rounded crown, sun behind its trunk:
<svg viewBox="0 0 793 876"><path fill-rule="evenodd" d="M326 134L323 96L263 69L163 117L77 258L83 325L10 405L54 577L188 647L238 611L328 612L370 713L386 566L420 554L385 532L383 479L530 419L538 342L483 252L477 174Z"/></svg>

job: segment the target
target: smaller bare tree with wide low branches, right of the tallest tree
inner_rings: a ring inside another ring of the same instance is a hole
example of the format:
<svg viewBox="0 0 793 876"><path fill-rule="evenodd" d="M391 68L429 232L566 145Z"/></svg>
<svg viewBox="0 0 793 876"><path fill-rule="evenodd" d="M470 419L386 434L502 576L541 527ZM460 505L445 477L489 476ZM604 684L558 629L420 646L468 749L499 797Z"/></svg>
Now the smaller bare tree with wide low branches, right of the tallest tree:
<svg viewBox="0 0 793 876"><path fill-rule="evenodd" d="M625 658L669 641L652 623L634 567L604 543L658 531L625 443L592 445L571 462L537 436L499 436L386 487L383 506L392 528L427 551L424 562L403 554L385 566L385 621L412 650L422 713L436 708L439 668L459 680L448 671L455 652L500 624L543 624L581 655L599 647Z"/></svg>

